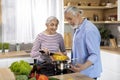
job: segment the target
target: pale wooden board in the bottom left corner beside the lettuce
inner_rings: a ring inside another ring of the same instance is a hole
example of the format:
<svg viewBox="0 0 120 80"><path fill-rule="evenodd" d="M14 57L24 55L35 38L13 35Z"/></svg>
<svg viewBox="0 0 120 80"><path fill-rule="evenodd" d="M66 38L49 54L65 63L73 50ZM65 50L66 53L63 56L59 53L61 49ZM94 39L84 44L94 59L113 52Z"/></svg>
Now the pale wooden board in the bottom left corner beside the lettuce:
<svg viewBox="0 0 120 80"><path fill-rule="evenodd" d="M10 69L0 68L0 80L15 80L15 76Z"/></svg>

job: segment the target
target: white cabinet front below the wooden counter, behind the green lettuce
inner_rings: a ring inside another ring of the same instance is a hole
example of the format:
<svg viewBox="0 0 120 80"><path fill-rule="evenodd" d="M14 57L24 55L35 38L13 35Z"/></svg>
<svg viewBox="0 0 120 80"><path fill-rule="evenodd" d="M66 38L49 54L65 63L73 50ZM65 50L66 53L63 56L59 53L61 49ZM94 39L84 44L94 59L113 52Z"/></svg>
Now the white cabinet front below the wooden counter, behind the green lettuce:
<svg viewBox="0 0 120 80"><path fill-rule="evenodd" d="M8 68L13 62L20 60L27 61L28 63L34 63L34 60L31 57L3 58L0 59L0 68Z"/></svg>

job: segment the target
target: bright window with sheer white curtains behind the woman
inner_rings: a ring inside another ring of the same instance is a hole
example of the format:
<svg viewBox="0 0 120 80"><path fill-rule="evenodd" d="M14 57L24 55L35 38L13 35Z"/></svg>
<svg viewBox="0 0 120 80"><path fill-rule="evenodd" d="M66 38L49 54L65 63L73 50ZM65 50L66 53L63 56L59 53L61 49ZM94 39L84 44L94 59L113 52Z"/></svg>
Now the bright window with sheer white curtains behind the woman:
<svg viewBox="0 0 120 80"><path fill-rule="evenodd" d="M45 30L45 21L56 16L64 32L63 0L2 0L3 42L29 43Z"/></svg>

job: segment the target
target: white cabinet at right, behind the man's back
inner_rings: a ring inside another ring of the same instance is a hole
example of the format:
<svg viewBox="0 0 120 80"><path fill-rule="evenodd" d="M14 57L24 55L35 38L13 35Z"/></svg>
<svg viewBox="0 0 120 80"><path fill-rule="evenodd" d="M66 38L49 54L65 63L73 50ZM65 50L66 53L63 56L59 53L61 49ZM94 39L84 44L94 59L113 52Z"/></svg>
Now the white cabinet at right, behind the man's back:
<svg viewBox="0 0 120 80"><path fill-rule="evenodd" d="M103 72L100 80L120 80L120 55L101 50Z"/></svg>

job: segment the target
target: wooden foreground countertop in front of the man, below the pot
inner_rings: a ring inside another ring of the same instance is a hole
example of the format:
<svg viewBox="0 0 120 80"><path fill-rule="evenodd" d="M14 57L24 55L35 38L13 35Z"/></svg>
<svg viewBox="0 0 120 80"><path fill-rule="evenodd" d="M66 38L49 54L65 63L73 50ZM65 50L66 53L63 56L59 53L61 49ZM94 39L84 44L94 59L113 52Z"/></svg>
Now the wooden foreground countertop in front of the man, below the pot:
<svg viewBox="0 0 120 80"><path fill-rule="evenodd" d="M60 80L94 80L80 73L70 73L70 74L57 75L52 77L58 78Z"/></svg>

